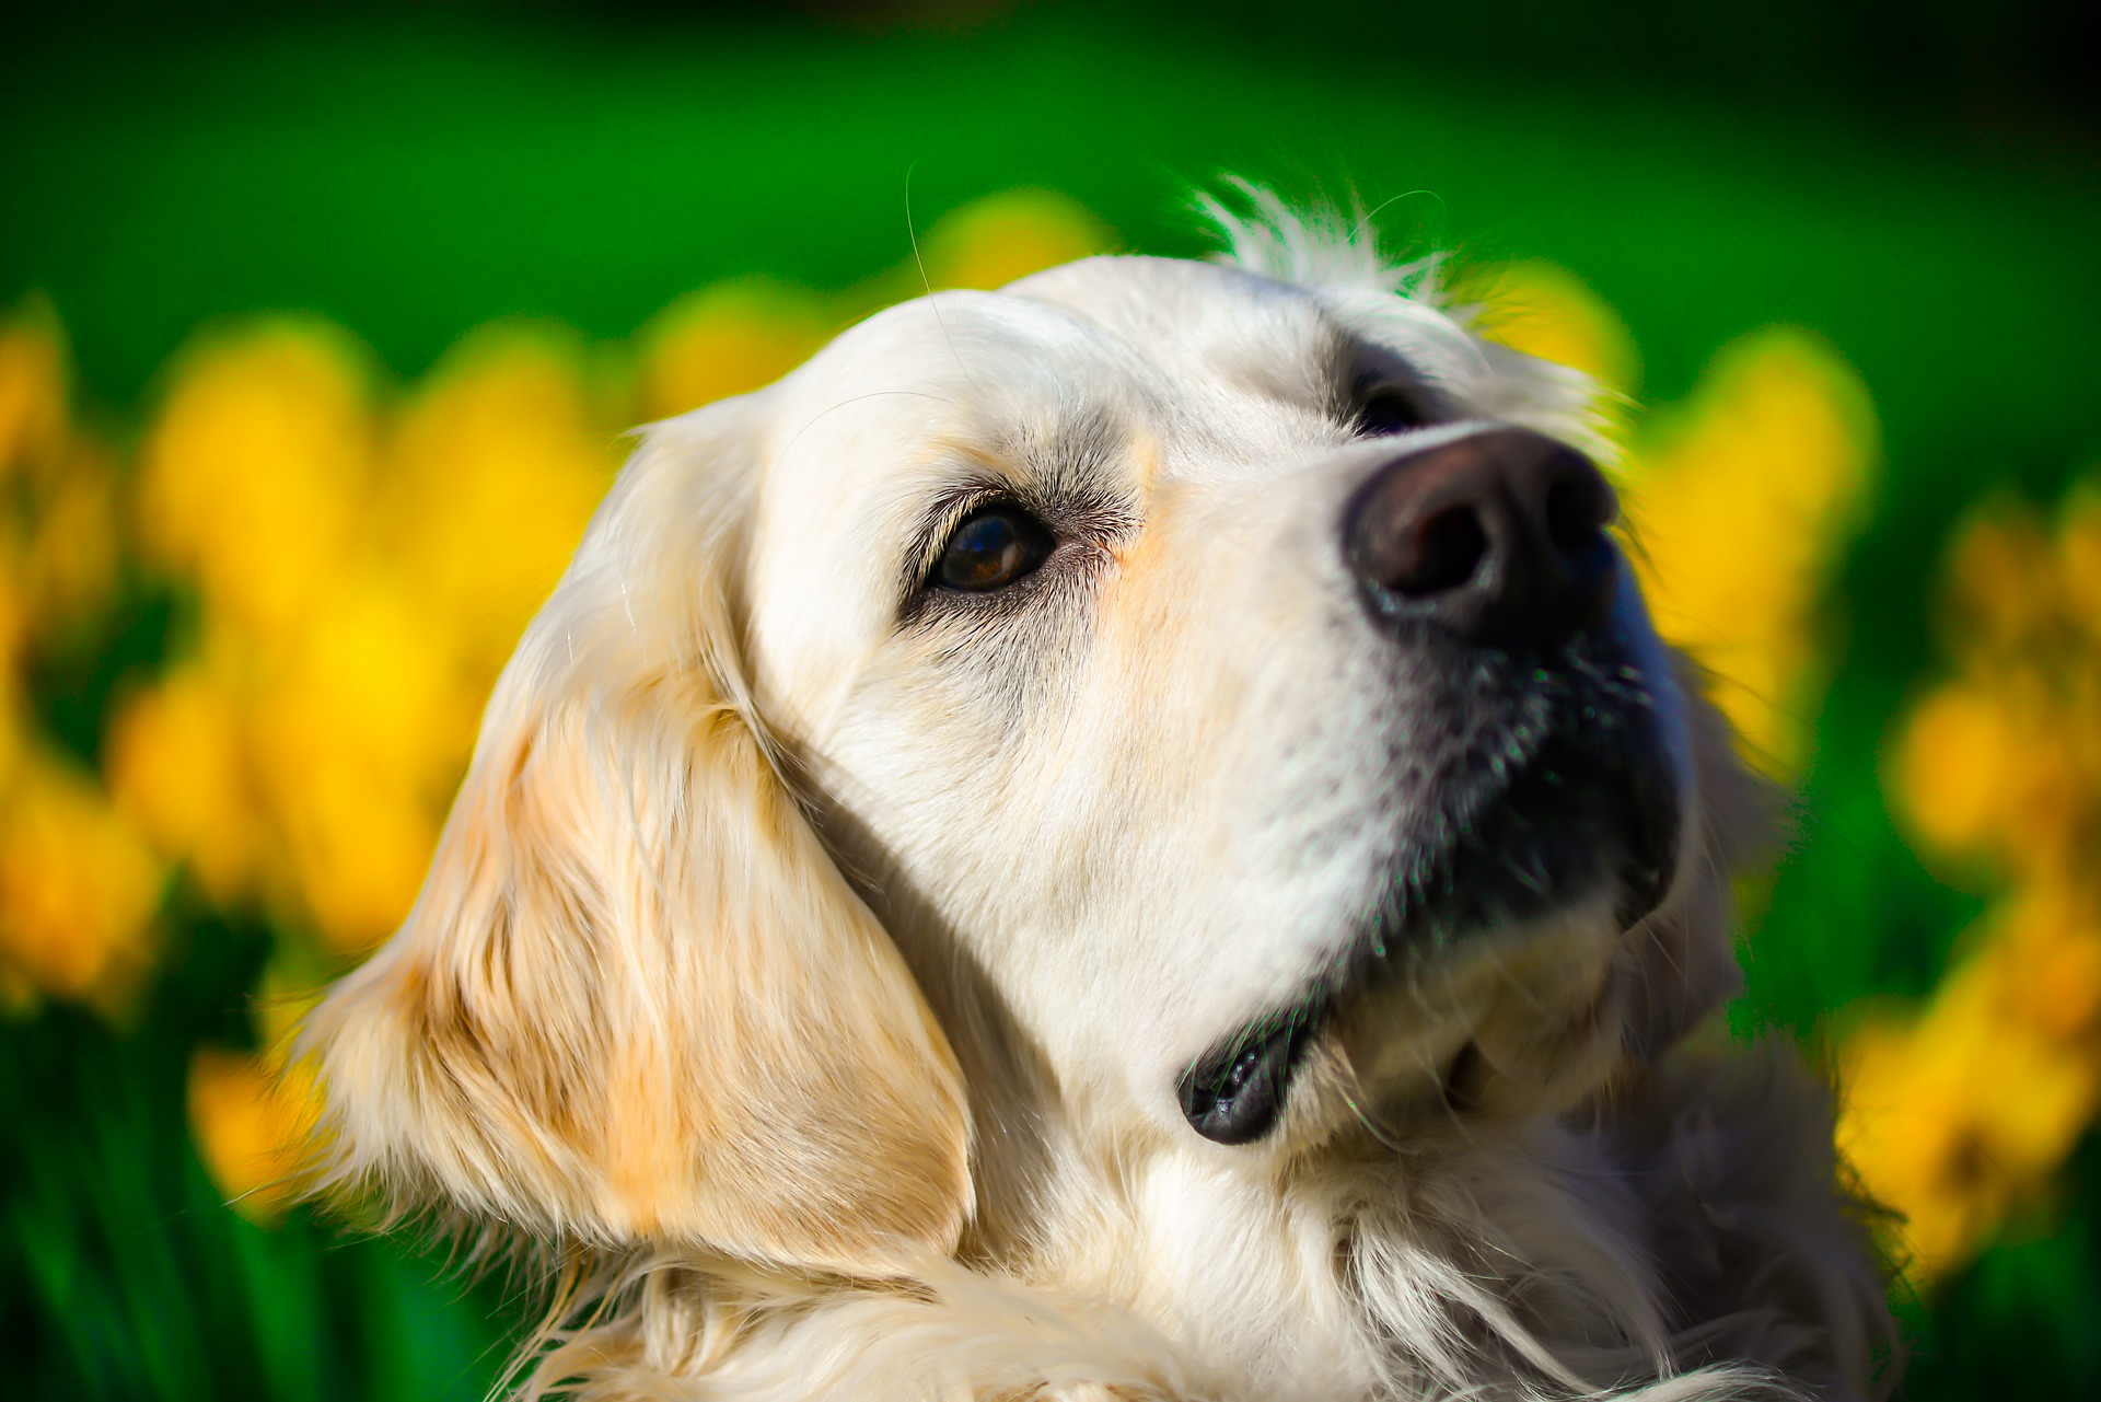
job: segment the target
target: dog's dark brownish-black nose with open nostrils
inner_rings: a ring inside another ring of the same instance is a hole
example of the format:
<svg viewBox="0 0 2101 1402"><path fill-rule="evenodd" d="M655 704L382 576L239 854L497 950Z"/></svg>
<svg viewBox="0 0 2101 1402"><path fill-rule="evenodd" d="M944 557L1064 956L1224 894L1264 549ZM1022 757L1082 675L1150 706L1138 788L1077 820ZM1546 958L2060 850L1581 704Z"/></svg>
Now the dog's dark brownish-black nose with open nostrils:
<svg viewBox="0 0 2101 1402"><path fill-rule="evenodd" d="M1553 647L1611 610L1616 511L1605 477L1567 444L1492 429L1378 469L1343 515L1343 549L1385 618Z"/></svg>

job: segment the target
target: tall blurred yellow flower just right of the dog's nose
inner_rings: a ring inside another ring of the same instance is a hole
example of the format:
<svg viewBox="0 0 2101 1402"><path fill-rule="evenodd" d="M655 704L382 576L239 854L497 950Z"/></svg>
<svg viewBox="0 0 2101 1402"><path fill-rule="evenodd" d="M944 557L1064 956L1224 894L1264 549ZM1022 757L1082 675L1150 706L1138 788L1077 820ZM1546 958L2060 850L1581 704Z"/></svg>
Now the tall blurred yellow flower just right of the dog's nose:
<svg viewBox="0 0 2101 1402"><path fill-rule="evenodd" d="M1822 689L1815 605L1874 458L1859 376L1788 328L1725 347L1630 454L1622 498L1658 628L1714 673L1717 704L1782 767L1803 759Z"/></svg>

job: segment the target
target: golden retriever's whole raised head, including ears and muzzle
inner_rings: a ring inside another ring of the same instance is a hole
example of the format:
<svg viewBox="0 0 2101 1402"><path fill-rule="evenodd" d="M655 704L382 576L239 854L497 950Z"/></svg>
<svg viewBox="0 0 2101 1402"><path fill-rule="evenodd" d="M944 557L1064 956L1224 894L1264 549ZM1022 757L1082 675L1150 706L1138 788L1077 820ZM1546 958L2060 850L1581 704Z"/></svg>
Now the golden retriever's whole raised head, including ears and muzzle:
<svg viewBox="0 0 2101 1402"><path fill-rule="evenodd" d="M880 1270L981 1207L987 1043L1038 1127L1271 1173L1565 1108L1727 996L1744 780L1586 385L1240 233L647 433L305 1032L332 1179Z"/></svg>

